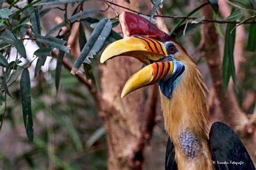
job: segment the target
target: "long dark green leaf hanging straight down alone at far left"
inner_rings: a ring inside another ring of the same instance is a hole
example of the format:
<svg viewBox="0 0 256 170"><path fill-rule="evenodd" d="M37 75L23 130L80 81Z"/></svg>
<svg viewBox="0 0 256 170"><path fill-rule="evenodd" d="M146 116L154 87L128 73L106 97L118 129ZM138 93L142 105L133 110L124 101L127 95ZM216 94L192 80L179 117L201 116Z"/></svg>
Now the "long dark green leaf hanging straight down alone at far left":
<svg viewBox="0 0 256 170"><path fill-rule="evenodd" d="M31 93L29 70L24 69L21 76L21 97L23 121L26 129L26 135L30 141L33 141L33 119L31 111Z"/></svg>

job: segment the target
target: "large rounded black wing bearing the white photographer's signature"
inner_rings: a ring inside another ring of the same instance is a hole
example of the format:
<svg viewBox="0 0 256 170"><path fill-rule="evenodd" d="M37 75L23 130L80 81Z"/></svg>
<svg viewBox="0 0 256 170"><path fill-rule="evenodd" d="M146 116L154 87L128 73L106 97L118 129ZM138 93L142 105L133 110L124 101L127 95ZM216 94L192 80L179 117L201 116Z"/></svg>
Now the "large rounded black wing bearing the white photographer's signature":
<svg viewBox="0 0 256 170"><path fill-rule="evenodd" d="M246 148L230 127L224 123L214 123L209 138L213 164L216 169L255 170Z"/></svg>

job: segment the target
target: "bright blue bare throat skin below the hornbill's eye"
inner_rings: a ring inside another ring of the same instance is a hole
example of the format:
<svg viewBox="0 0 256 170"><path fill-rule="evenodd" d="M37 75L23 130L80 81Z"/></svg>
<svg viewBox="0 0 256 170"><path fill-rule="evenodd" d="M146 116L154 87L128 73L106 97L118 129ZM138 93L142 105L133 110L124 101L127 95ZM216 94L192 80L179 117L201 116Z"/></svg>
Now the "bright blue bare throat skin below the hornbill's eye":
<svg viewBox="0 0 256 170"><path fill-rule="evenodd" d="M176 85L179 83L183 73L185 71L185 65L177 60L172 60L173 71L169 77L159 81L161 92L168 99L172 97L172 92Z"/></svg>

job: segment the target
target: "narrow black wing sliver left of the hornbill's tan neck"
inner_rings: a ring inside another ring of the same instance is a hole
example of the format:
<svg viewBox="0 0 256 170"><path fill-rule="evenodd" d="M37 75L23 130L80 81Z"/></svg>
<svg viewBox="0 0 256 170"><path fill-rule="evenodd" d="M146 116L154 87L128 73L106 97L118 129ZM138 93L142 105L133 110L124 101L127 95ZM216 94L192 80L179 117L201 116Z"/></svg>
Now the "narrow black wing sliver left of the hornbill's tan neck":
<svg viewBox="0 0 256 170"><path fill-rule="evenodd" d="M165 170L177 170L177 164L174 158L175 158L174 145L169 137L167 141L166 154L165 154Z"/></svg>

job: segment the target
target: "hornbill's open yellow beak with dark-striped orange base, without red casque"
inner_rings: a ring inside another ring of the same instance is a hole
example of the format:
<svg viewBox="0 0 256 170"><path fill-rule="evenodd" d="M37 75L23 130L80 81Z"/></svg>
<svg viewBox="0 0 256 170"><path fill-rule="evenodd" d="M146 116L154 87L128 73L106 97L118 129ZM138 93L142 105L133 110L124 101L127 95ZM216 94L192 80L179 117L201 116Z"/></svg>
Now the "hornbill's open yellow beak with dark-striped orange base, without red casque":
<svg viewBox="0 0 256 170"><path fill-rule="evenodd" d="M134 57L147 65L133 74L126 82L121 98L134 90L163 80L173 72L173 63L171 61L159 62L168 55L164 43L155 39L133 36L117 40L103 51L100 63L117 56Z"/></svg>

